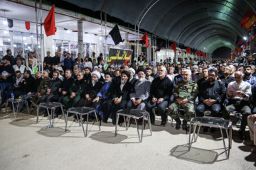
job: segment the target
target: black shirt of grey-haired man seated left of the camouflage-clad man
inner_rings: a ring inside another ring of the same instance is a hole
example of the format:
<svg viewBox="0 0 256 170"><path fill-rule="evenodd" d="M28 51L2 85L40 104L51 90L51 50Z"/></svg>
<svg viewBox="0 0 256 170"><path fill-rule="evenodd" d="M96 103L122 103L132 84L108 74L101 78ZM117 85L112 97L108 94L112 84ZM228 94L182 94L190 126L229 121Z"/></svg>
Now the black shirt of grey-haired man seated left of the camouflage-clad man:
<svg viewBox="0 0 256 170"><path fill-rule="evenodd" d="M164 101L168 101L173 89L174 85L168 77L156 77L151 83L150 98L164 98Z"/></svg>

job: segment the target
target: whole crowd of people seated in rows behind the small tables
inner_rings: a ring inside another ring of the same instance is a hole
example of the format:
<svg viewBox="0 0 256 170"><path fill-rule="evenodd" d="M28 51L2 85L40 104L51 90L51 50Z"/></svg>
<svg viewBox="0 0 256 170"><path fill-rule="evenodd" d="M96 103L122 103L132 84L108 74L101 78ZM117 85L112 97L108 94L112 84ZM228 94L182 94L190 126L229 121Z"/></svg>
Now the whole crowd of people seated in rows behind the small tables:
<svg viewBox="0 0 256 170"><path fill-rule="evenodd" d="M41 73L33 52L25 65L21 56L14 59L10 51L7 53L0 67L1 104L13 92L15 98L26 98L36 104L63 103L66 110L92 107L103 122L112 118L113 124L119 109L136 108L148 111L154 125L155 110L161 115L161 126L166 126L170 115L176 120L177 130L181 127L181 109L183 130L187 130L191 118L203 116L205 111L225 119L230 119L230 113L237 111L242 115L238 118L242 139L247 117L256 113L256 72L252 55L247 56L246 64L198 62L196 59L186 64L171 64L168 60L147 64L146 57L139 56L138 64L134 61L114 67L105 64L102 54L95 57L95 52L84 60L80 54L75 58L64 52L60 57L56 52L55 57L50 57L47 52ZM20 107L23 105L21 103ZM59 112L56 110L53 116L58 117ZM45 115L48 116L46 112ZM255 115L248 120L255 123Z"/></svg>

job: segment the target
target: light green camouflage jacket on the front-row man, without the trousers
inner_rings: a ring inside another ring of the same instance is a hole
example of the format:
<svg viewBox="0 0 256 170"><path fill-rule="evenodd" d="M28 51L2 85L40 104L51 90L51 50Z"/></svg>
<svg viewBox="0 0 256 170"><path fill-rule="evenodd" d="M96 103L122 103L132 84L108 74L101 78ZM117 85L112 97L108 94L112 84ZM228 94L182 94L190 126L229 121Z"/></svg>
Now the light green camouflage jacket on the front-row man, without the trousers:
<svg viewBox="0 0 256 170"><path fill-rule="evenodd" d="M185 83L183 80L178 81L174 89L174 100L177 98L188 99L188 102L194 103L198 94L198 85L196 81L188 81Z"/></svg>

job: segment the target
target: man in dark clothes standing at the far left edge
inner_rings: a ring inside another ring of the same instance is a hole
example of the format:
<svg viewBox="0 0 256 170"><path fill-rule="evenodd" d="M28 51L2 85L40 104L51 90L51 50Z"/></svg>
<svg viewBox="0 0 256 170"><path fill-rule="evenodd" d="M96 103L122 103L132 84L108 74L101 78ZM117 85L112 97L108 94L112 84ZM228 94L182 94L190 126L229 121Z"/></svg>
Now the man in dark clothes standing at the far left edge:
<svg viewBox="0 0 256 170"><path fill-rule="evenodd" d="M10 57L3 57L3 65L0 67L1 77L1 104L11 97L11 87L13 84L14 68L8 63Z"/></svg>

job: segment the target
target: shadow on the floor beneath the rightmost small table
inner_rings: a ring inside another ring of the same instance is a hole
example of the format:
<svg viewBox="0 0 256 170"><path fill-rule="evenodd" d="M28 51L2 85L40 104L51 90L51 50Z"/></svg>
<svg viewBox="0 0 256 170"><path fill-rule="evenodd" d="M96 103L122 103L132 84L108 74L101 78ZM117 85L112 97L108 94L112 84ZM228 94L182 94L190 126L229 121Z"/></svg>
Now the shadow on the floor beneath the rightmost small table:
<svg viewBox="0 0 256 170"><path fill-rule="evenodd" d="M195 147L188 150L187 146L179 145L171 149L171 156L199 164L213 164L218 158L218 153Z"/></svg>

